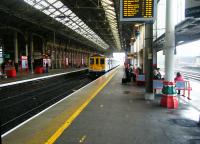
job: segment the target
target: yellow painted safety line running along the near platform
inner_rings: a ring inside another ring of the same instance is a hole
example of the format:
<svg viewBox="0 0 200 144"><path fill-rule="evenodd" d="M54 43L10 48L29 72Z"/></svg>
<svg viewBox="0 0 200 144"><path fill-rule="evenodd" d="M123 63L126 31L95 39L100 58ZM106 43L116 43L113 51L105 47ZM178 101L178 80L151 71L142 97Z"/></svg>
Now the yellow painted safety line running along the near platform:
<svg viewBox="0 0 200 144"><path fill-rule="evenodd" d="M83 111L83 109L90 103L90 101L107 85L107 83L112 79L116 74L117 70L108 78L108 80L103 83L97 91L95 91L92 96L90 96L70 117L65 123L51 136L51 138L45 142L45 144L53 144L56 139L67 129L70 124L75 120L75 118Z"/></svg>

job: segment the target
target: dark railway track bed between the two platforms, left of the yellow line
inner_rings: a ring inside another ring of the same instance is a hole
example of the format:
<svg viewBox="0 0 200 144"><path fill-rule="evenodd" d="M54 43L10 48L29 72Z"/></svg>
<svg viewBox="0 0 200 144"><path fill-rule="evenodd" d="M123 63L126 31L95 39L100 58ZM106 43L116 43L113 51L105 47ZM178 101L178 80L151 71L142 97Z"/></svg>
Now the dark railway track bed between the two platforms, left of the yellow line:
<svg viewBox="0 0 200 144"><path fill-rule="evenodd" d="M1 88L1 132L12 129L91 81L84 73Z"/></svg>

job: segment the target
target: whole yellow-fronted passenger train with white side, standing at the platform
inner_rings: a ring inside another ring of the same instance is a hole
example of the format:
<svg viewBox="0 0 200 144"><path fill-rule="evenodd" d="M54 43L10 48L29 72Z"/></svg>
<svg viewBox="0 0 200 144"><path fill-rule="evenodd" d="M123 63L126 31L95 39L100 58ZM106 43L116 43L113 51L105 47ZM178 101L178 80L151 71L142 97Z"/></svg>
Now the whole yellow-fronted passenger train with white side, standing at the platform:
<svg viewBox="0 0 200 144"><path fill-rule="evenodd" d="M117 67L119 61L114 58L106 58L106 56L95 54L89 59L89 74L92 77L98 77L111 69Z"/></svg>

